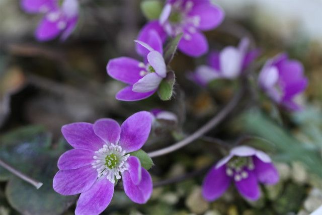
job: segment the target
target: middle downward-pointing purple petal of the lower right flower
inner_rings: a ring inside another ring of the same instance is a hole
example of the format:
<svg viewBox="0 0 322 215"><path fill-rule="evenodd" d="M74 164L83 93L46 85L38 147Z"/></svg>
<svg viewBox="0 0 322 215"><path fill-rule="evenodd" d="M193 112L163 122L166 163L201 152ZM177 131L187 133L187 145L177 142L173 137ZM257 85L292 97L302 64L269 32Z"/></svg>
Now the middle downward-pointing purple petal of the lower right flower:
<svg viewBox="0 0 322 215"><path fill-rule="evenodd" d="M235 181L235 186L240 195L251 201L256 201L261 195L260 188L254 172L247 171L247 173L248 177L243 178L240 181Z"/></svg>

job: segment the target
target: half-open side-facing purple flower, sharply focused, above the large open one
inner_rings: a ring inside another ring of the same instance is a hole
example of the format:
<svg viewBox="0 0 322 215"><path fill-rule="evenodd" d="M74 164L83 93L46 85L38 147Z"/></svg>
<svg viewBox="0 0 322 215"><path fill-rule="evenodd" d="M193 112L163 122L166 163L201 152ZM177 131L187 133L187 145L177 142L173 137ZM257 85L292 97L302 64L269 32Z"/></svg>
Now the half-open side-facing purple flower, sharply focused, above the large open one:
<svg viewBox="0 0 322 215"><path fill-rule="evenodd" d="M144 62L129 57L118 57L109 60L107 64L109 76L129 85L116 94L118 100L145 99L158 89L161 81L167 76L162 42L158 34L155 31L149 32L150 45L137 40L136 42L144 50Z"/></svg>

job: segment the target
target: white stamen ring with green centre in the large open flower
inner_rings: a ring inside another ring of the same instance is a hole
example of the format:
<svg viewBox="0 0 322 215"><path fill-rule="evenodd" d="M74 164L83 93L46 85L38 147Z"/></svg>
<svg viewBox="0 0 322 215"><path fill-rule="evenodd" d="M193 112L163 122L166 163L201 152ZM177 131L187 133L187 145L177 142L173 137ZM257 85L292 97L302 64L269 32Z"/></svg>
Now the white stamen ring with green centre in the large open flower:
<svg viewBox="0 0 322 215"><path fill-rule="evenodd" d="M120 179L120 173L128 169L126 161L130 155L126 155L126 152L120 146L104 145L95 154L93 157L95 161L92 166L97 170L98 178L106 177L109 181L115 183L115 178Z"/></svg>

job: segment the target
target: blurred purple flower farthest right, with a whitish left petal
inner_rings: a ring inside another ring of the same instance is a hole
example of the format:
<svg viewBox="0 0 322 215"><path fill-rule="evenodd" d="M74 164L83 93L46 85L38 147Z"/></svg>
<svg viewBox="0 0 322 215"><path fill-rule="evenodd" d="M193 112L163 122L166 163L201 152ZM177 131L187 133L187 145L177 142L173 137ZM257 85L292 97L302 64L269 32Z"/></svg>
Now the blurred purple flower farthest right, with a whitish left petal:
<svg viewBox="0 0 322 215"><path fill-rule="evenodd" d="M303 65L299 61L290 60L283 53L266 62L258 83L274 102L286 109L297 111L301 107L294 102L294 97L302 93L308 84L303 72Z"/></svg>

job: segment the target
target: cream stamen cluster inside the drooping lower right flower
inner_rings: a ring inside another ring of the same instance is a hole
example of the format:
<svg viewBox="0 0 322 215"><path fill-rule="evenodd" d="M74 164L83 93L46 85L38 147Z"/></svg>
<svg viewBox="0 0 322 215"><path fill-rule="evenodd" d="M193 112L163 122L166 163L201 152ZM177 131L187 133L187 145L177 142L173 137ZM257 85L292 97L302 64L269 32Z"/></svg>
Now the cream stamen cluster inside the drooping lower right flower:
<svg viewBox="0 0 322 215"><path fill-rule="evenodd" d="M235 181L248 178L247 170L254 170L252 157L233 157L226 165L226 174Z"/></svg>

